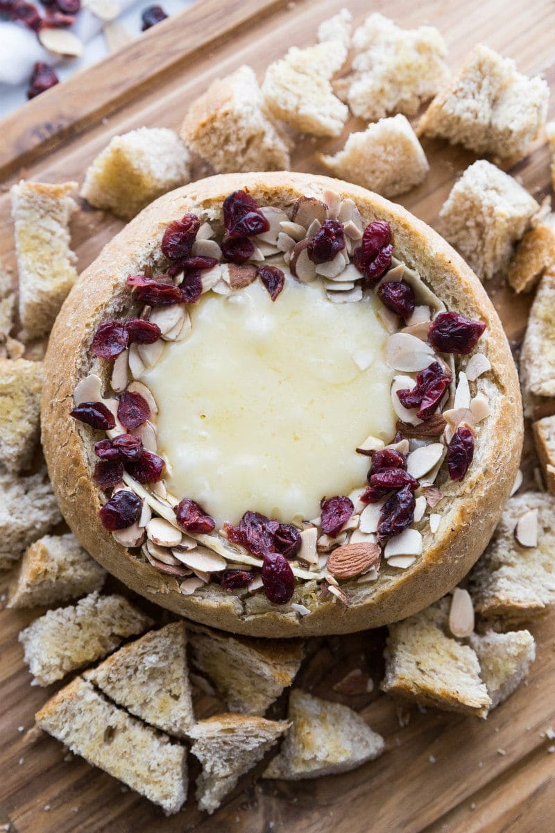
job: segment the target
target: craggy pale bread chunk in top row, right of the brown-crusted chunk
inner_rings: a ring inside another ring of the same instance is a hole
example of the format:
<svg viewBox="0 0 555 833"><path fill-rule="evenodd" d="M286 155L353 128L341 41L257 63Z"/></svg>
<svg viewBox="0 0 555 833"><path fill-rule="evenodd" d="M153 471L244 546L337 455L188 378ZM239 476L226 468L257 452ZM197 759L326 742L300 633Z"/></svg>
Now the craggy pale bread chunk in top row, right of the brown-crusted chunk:
<svg viewBox="0 0 555 833"><path fill-rule="evenodd" d="M342 40L305 49L290 47L285 57L270 63L262 82L265 104L272 116L301 133L339 136L349 108L334 95L331 78L346 57Z"/></svg>

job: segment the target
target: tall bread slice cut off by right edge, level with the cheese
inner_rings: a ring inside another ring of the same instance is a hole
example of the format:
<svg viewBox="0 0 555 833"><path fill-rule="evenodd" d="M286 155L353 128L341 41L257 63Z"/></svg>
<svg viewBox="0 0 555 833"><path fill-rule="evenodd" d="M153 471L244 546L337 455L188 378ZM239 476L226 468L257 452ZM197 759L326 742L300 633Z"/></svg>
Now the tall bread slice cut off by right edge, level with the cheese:
<svg viewBox="0 0 555 833"><path fill-rule="evenodd" d="M526 416L555 397L555 270L545 273L534 297L520 353L520 382Z"/></svg>

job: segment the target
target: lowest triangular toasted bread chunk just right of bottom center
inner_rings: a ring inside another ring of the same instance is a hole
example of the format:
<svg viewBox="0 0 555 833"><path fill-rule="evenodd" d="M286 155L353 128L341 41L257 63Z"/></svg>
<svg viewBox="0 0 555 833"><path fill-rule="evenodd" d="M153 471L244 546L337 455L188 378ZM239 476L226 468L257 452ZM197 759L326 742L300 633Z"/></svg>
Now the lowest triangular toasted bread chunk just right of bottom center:
<svg viewBox="0 0 555 833"><path fill-rule="evenodd" d="M349 706L295 689L287 716L293 725L263 778L300 781L348 772L384 751L384 738Z"/></svg>

